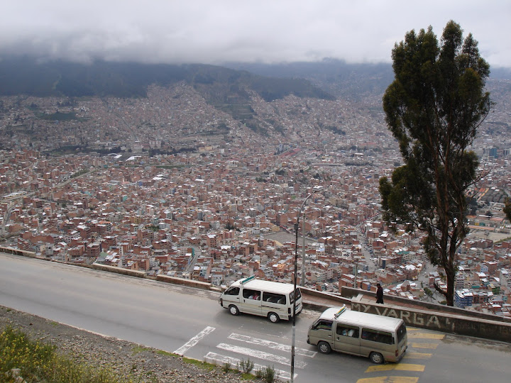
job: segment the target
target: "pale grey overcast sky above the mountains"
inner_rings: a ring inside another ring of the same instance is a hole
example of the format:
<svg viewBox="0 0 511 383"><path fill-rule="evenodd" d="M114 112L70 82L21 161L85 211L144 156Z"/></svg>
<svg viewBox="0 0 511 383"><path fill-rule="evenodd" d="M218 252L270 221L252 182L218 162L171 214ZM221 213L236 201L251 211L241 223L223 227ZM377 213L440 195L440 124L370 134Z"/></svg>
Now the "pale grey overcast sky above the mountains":
<svg viewBox="0 0 511 383"><path fill-rule="evenodd" d="M4 0L0 58L390 62L407 31L451 19L511 67L510 0Z"/></svg>

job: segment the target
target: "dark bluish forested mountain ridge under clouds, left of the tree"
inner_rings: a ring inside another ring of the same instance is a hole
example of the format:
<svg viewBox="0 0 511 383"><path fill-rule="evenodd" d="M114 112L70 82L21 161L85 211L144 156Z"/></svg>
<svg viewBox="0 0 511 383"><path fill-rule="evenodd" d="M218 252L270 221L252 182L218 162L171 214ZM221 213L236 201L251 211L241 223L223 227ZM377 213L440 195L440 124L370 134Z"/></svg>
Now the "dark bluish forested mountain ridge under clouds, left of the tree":
<svg viewBox="0 0 511 383"><path fill-rule="evenodd" d="M205 94L217 84L238 92L242 86L256 91L265 101L289 94L333 99L304 79L268 79L245 70L203 64L140 64L96 61L92 64L53 61L38 63L33 58L0 61L0 95L13 96L146 96L150 84L169 85L185 81ZM244 96L243 93L238 95Z"/></svg>

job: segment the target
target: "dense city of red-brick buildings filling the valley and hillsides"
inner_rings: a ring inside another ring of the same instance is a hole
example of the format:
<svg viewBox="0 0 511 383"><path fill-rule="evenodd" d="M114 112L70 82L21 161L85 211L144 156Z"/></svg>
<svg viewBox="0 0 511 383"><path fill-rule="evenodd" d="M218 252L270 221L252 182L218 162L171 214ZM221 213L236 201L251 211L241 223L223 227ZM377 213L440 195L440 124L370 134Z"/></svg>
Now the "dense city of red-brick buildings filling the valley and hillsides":
<svg viewBox="0 0 511 383"><path fill-rule="evenodd" d="M498 102L473 145L488 174L473 189L455 304L511 318L509 85L488 81ZM306 287L380 282L442 301L422 233L380 215L379 179L402 164L381 96L252 99L263 134L184 82L146 99L2 96L0 246L217 286L292 282L298 255Z"/></svg>

